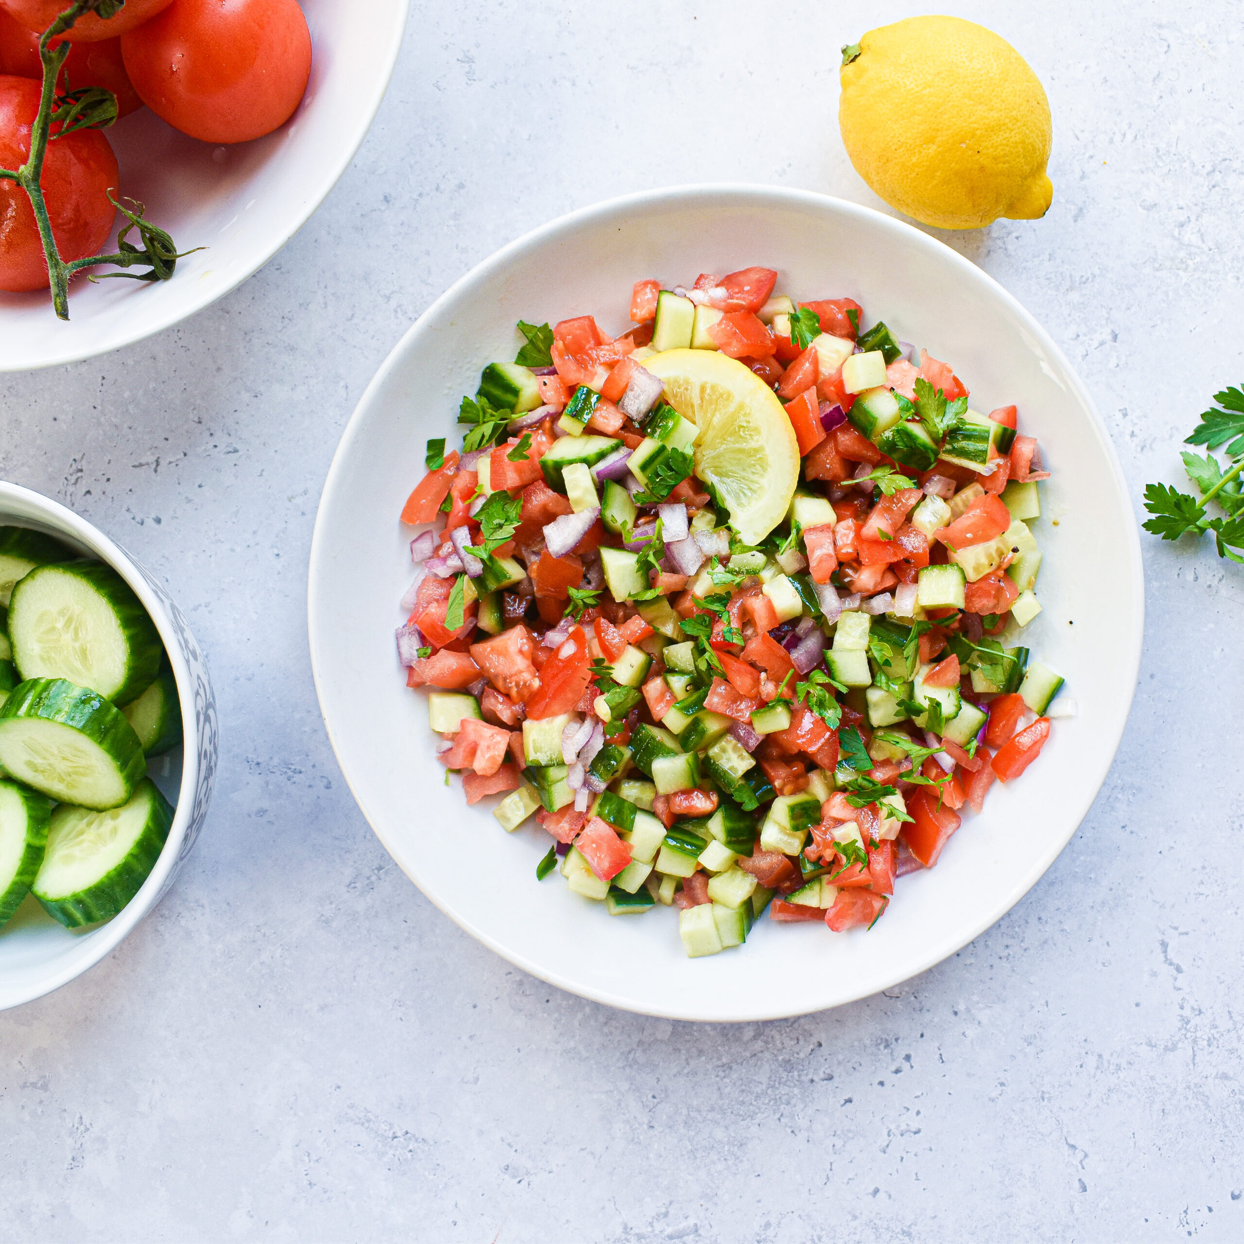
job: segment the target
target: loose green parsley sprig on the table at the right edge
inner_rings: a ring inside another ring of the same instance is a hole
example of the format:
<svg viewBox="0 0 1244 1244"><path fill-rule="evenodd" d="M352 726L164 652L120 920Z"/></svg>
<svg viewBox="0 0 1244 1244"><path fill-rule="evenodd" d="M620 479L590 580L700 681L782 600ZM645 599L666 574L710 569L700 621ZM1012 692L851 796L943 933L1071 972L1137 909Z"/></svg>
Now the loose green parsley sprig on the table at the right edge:
<svg viewBox="0 0 1244 1244"><path fill-rule="evenodd" d="M1240 486L1240 471L1244 470L1244 392L1225 388L1214 394L1214 401L1218 407L1202 414L1200 423L1184 444L1204 445L1209 450L1225 447L1232 462L1224 471L1213 453L1202 458L1186 450L1181 455L1184 470L1200 491L1200 500L1167 484L1146 485L1144 509L1153 518L1144 524L1144 530L1163 540L1203 536L1212 531L1218 556L1244 565L1244 491ZM1210 501L1223 514L1210 513Z"/></svg>

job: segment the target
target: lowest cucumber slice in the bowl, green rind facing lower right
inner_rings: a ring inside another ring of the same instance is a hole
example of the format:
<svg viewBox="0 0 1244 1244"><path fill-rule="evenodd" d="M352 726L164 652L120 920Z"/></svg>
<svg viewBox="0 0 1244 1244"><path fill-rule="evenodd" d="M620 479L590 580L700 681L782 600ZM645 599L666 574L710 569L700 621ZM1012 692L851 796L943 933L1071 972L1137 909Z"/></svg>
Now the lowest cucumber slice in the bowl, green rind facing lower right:
<svg viewBox="0 0 1244 1244"><path fill-rule="evenodd" d="M31 892L66 928L109 921L156 867L172 824L173 805L149 778L108 811L62 804Z"/></svg>

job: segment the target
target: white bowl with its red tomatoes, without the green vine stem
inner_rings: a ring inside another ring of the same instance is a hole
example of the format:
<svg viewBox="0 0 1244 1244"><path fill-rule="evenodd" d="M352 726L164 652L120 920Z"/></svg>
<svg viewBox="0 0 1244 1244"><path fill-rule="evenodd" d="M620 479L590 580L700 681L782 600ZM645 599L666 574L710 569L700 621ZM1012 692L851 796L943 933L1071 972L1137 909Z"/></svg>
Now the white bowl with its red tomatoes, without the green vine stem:
<svg viewBox="0 0 1244 1244"><path fill-rule="evenodd" d="M0 169L19 168L30 151L44 68L32 31L68 2L0 0ZM123 249L128 221L109 193L129 210L142 204L182 258L168 280L87 279L122 271L106 265L76 274L68 320L58 318L26 190L0 177L0 371L141 341L261 267L358 149L407 10L408 0L127 0L107 20L78 17L57 93L103 87L119 117L49 143L42 187L61 258ZM127 240L143 245L137 230Z"/></svg>

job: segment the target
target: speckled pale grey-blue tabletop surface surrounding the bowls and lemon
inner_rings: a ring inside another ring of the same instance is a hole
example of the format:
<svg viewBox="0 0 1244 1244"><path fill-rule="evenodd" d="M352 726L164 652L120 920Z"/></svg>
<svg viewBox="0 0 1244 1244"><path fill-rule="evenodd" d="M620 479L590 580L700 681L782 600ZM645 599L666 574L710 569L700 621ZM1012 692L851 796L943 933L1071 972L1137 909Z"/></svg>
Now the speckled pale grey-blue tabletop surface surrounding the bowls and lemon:
<svg viewBox="0 0 1244 1244"><path fill-rule="evenodd" d="M1144 539L1131 724L1047 876L940 967L789 1023L643 1019L509 968L391 862L321 728L312 519L402 331L496 246L622 192L880 207L838 142L837 50L911 11L417 0L374 131L262 272L154 341L0 378L0 473L164 576L223 736L173 892L0 1015L0 1237L1244 1238L1244 570L1209 550ZM1055 202L945 240L1071 357L1140 509L1244 379L1239 7L953 11L1045 82Z"/></svg>

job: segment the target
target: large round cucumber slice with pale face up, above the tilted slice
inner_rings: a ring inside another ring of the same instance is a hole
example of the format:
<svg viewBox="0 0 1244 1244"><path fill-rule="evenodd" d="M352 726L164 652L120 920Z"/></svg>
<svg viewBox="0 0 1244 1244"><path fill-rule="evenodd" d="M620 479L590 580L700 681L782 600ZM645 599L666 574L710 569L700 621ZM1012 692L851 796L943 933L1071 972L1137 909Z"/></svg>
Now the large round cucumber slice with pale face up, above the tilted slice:
<svg viewBox="0 0 1244 1244"><path fill-rule="evenodd" d="M114 704L156 680L164 648L129 585L100 561L32 570L14 588L9 638L24 679L66 678Z"/></svg>

